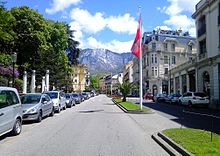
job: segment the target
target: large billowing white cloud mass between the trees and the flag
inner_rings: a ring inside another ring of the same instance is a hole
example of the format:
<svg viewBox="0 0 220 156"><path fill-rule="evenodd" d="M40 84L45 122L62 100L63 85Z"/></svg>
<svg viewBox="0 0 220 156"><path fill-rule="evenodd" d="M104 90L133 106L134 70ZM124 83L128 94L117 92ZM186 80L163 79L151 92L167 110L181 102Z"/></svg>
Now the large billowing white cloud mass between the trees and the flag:
<svg viewBox="0 0 220 156"><path fill-rule="evenodd" d="M138 22L130 14L105 16L101 12L91 14L87 10L75 8L71 11L70 18L72 20L70 26L71 29L76 30L74 36L80 42L80 48L105 48L115 52L130 51L133 40L127 42L111 40L104 43L94 37L88 37L88 35L95 35L106 28L113 33L135 34ZM86 37L88 38L86 39Z"/></svg>

